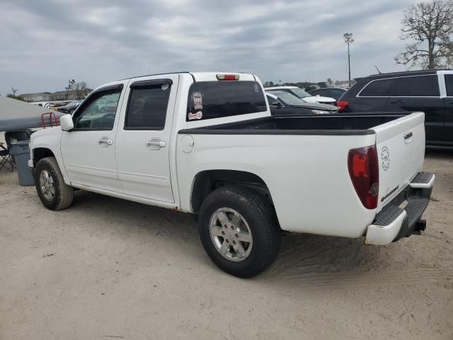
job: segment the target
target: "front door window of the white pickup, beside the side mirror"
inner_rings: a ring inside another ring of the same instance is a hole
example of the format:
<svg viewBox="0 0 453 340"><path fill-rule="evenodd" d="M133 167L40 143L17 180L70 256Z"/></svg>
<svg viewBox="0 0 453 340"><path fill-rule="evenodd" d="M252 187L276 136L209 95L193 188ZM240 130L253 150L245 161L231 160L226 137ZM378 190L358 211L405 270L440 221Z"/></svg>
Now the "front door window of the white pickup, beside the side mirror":
<svg viewBox="0 0 453 340"><path fill-rule="evenodd" d="M92 94L76 111L73 117L74 129L112 130L121 91L122 87Z"/></svg>

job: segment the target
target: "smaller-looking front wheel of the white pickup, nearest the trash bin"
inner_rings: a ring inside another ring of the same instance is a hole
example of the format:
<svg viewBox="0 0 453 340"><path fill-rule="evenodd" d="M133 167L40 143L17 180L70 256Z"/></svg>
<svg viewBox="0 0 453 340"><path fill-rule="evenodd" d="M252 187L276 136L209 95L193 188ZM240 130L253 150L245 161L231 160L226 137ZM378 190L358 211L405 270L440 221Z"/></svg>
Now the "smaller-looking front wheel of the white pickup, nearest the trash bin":
<svg viewBox="0 0 453 340"><path fill-rule="evenodd" d="M74 198L74 188L64 183L55 157L45 157L36 164L35 186L42 204L50 210L68 208Z"/></svg>

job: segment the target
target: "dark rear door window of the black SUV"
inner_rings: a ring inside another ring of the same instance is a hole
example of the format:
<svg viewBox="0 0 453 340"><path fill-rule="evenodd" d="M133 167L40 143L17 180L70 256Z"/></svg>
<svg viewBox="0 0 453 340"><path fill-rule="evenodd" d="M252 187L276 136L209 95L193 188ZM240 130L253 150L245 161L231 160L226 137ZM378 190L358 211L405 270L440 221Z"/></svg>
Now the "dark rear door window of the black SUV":
<svg viewBox="0 0 453 340"><path fill-rule="evenodd" d="M398 78L392 96L438 97L440 96L440 92L437 75Z"/></svg>

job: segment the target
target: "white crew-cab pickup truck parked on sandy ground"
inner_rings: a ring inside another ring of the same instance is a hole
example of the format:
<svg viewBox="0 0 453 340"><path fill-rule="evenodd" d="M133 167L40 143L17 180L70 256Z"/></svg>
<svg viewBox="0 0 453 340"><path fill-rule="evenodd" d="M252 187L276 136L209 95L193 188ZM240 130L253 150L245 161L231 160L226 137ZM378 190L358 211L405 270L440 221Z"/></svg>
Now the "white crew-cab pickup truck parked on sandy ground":
<svg viewBox="0 0 453 340"><path fill-rule="evenodd" d="M156 74L93 91L61 126L35 132L40 200L74 188L190 212L212 261L251 277L282 232L384 245L425 229L435 176L422 173L424 114L272 117L252 74Z"/></svg>

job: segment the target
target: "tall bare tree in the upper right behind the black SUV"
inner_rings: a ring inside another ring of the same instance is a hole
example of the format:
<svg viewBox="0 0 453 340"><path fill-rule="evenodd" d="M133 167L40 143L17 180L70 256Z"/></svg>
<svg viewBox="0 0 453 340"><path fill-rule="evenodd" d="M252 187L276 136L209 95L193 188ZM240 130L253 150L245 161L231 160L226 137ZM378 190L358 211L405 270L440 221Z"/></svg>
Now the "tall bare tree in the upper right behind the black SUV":
<svg viewBox="0 0 453 340"><path fill-rule="evenodd" d="M452 63L453 1L422 1L409 6L401 21L401 40L412 40L395 58L397 64L423 69Z"/></svg>

